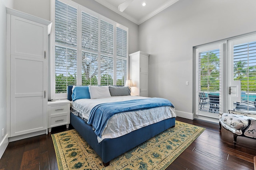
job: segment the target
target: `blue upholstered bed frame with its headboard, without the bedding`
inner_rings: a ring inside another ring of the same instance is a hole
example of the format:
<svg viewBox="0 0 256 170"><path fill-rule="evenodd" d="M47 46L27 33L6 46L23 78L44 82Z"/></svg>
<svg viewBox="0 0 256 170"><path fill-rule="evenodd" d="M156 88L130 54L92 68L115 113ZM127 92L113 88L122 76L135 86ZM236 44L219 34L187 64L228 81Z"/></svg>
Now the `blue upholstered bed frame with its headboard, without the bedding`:
<svg viewBox="0 0 256 170"><path fill-rule="evenodd" d="M72 86L68 86L67 91L68 100L72 101ZM104 166L108 166L110 160L140 145L166 129L174 127L175 117L142 127L118 138L104 139L101 143L98 143L97 136L92 130L92 126L88 125L79 116L70 113L70 123L100 158L102 158Z"/></svg>

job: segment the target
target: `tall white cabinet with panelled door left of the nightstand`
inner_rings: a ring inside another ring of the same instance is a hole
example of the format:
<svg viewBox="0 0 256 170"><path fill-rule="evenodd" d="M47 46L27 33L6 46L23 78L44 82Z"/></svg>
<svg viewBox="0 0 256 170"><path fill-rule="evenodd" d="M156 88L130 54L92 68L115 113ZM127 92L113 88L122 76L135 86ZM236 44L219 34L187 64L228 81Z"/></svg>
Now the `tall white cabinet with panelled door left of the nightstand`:
<svg viewBox="0 0 256 170"><path fill-rule="evenodd" d="M7 119L9 137L14 137L47 129L47 51L51 22L9 8L6 11Z"/></svg>

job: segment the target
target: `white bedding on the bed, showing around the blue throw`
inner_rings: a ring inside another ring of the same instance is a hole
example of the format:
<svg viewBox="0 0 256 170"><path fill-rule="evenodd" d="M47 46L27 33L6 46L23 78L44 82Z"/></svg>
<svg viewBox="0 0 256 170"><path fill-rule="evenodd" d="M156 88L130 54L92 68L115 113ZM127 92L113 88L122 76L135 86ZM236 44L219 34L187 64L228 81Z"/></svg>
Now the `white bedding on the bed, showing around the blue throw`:
<svg viewBox="0 0 256 170"><path fill-rule="evenodd" d="M126 100L144 99L140 96L112 96L100 99L78 99L72 102L72 113L80 116L84 120L88 120L92 108L101 103L120 102ZM141 127L145 127L152 123L176 117L174 107L163 106L152 109L144 109L138 111L129 111L113 115L102 133L102 137L98 137L100 143L106 138L116 138Z"/></svg>

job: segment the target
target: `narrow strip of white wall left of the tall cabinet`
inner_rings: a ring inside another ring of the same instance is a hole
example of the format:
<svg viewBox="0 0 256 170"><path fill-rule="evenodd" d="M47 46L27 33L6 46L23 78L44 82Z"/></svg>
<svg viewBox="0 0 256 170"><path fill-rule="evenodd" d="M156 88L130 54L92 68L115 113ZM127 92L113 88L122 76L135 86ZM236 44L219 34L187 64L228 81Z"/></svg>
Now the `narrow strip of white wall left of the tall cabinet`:
<svg viewBox="0 0 256 170"><path fill-rule="evenodd" d="M0 158L8 145L6 134L6 7L13 7L13 0L0 0ZM2 129L4 134L2 136Z"/></svg>

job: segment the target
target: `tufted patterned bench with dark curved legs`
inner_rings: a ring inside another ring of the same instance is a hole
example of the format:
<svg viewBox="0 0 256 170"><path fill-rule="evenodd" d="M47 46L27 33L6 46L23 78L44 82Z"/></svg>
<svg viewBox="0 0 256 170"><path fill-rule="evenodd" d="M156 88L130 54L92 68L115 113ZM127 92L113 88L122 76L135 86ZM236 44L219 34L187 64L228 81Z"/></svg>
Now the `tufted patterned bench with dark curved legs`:
<svg viewBox="0 0 256 170"><path fill-rule="evenodd" d="M256 113L248 111L229 110L229 113L219 113L221 127L234 135L234 145L238 136L256 139Z"/></svg>

